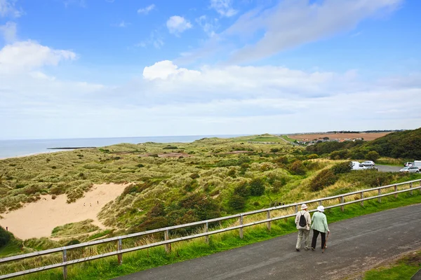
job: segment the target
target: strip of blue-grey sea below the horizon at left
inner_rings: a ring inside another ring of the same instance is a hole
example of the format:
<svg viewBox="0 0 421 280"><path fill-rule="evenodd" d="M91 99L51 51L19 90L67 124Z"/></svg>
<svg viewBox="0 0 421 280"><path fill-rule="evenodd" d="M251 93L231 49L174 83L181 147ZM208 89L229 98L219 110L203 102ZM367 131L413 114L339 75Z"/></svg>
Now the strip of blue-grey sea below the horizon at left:
<svg viewBox="0 0 421 280"><path fill-rule="evenodd" d="M140 144L145 142L156 143L189 143L202 138L219 137L231 138L241 135L189 135L189 136L159 136L159 137L114 137L114 138L76 138L76 139L25 139L25 140L0 140L0 159L14 158L38 153L53 153L69 151L69 147L103 147L114 144L130 143Z"/></svg>

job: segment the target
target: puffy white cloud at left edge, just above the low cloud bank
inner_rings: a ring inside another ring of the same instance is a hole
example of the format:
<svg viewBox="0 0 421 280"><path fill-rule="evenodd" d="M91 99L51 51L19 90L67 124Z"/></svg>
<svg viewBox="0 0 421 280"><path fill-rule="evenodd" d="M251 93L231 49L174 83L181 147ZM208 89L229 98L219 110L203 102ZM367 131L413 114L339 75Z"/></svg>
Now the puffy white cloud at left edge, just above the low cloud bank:
<svg viewBox="0 0 421 280"><path fill-rule="evenodd" d="M76 54L70 50L54 50L35 41L20 41L0 50L0 72L27 71L74 59Z"/></svg>

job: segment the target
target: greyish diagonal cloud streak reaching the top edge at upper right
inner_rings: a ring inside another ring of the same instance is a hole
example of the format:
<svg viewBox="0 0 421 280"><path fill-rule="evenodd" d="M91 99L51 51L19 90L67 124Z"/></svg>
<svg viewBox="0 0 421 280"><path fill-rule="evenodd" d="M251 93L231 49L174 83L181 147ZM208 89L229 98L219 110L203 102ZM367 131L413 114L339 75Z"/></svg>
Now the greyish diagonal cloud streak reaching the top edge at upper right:
<svg viewBox="0 0 421 280"><path fill-rule="evenodd" d="M244 13L190 57L196 59L218 52L229 54L233 64L256 61L352 30L362 20L390 13L401 3L403 0L280 1L276 6Z"/></svg>

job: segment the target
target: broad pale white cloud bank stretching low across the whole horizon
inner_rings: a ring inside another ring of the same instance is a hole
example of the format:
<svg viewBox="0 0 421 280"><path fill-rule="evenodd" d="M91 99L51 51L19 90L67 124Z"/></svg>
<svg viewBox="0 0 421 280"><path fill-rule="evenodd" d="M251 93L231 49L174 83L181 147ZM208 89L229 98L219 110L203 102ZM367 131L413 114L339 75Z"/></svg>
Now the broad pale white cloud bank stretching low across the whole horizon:
<svg viewBox="0 0 421 280"><path fill-rule="evenodd" d="M421 85L412 83L417 78L362 82L354 70L187 69L161 61L145 67L142 77L105 87L64 82L39 69L6 72L0 73L0 119L8 121L0 137L410 129L421 123L421 99L413 98L421 94Z"/></svg>

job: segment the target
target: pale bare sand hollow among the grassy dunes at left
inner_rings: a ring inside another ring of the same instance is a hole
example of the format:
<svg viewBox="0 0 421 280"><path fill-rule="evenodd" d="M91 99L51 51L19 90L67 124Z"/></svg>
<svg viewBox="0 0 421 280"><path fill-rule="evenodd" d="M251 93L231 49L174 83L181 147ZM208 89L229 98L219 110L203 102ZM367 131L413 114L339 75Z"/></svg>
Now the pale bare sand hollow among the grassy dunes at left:
<svg viewBox="0 0 421 280"><path fill-rule="evenodd" d="M76 223L92 219L94 225L104 229L97 215L108 202L123 193L128 184L104 183L94 185L85 196L76 202L67 204L66 195L58 195L55 200L51 195L41 196L41 200L26 204L25 207L1 214L0 225L20 239L50 237L53 228L67 223Z"/></svg>

